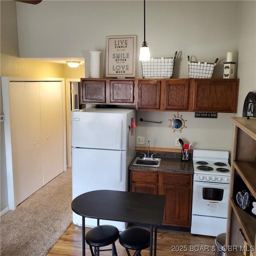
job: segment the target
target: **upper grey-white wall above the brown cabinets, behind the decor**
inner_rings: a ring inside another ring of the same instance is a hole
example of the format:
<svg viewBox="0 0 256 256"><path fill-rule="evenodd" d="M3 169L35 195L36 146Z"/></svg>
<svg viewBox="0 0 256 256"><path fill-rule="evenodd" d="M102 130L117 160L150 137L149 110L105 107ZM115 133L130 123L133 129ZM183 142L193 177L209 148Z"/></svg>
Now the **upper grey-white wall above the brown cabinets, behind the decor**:
<svg viewBox="0 0 256 256"><path fill-rule="evenodd" d="M174 56L174 78L188 77L187 56L219 65L223 75L226 52L237 51L239 1L146 1L146 41L152 57ZM105 73L106 36L137 35L136 77L143 42L143 1L42 1L17 3L20 57L85 57L90 74L90 50L101 54ZM227 29L228 28L228 29Z"/></svg>

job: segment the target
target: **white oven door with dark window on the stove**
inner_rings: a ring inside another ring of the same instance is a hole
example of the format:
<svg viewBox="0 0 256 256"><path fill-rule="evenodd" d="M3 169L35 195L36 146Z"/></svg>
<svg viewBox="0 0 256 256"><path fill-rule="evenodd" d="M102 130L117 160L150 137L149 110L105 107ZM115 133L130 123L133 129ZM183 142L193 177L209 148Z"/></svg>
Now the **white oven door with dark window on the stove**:
<svg viewBox="0 0 256 256"><path fill-rule="evenodd" d="M227 218L229 184L194 181L192 214Z"/></svg>

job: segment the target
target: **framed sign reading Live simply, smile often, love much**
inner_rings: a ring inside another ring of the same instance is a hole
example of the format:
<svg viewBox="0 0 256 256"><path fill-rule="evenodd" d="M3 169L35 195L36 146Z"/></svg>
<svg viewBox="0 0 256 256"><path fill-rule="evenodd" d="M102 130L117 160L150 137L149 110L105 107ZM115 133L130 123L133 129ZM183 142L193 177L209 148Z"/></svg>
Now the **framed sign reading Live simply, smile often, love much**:
<svg viewBox="0 0 256 256"><path fill-rule="evenodd" d="M135 77L136 36L107 36L106 77Z"/></svg>

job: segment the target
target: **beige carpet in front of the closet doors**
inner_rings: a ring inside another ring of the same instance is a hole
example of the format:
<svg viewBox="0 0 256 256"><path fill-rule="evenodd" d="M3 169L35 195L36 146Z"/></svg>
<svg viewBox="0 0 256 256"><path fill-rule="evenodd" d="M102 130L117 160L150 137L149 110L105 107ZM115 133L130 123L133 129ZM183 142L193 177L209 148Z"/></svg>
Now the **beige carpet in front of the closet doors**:
<svg viewBox="0 0 256 256"><path fill-rule="evenodd" d="M62 172L0 219L1 256L46 256L72 222L72 171Z"/></svg>

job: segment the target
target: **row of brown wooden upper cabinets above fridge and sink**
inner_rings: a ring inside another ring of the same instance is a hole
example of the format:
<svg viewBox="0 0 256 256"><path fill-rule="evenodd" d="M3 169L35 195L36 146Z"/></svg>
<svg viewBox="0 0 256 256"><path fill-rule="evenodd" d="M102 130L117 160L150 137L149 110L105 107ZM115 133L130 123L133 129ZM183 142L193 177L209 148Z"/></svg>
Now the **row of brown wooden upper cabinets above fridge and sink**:
<svg viewBox="0 0 256 256"><path fill-rule="evenodd" d="M236 113L239 79L81 78L79 104L137 110Z"/></svg>

